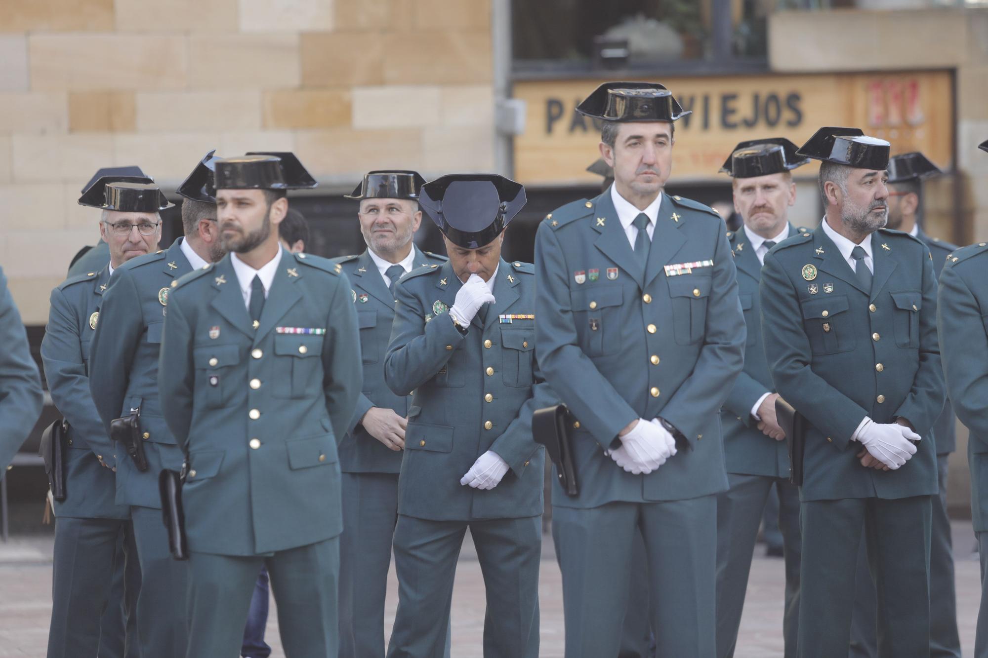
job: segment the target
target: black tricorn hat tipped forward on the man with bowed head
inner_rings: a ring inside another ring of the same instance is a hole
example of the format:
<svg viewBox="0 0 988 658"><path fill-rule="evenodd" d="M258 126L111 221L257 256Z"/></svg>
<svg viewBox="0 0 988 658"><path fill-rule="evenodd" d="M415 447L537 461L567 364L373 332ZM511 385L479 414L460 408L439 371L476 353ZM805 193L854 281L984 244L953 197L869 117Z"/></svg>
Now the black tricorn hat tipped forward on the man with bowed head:
<svg viewBox="0 0 988 658"><path fill-rule="evenodd" d="M525 186L496 174L453 174L422 186L419 204L453 244L478 249L525 206Z"/></svg>

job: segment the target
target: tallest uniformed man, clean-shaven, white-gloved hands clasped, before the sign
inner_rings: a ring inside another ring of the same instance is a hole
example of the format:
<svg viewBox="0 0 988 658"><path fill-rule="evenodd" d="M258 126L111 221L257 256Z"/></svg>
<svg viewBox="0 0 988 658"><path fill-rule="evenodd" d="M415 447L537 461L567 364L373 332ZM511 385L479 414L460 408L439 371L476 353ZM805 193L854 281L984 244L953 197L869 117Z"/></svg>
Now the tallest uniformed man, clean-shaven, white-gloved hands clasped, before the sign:
<svg viewBox="0 0 988 658"><path fill-rule="evenodd" d="M658 655L712 656L718 411L745 344L733 257L713 210L663 192L688 114L669 91L607 83L577 110L603 120L615 184L553 210L535 240L538 360L578 419L579 495L552 490L566 656L617 656L634 576ZM647 576L631 572L639 530Z"/></svg>

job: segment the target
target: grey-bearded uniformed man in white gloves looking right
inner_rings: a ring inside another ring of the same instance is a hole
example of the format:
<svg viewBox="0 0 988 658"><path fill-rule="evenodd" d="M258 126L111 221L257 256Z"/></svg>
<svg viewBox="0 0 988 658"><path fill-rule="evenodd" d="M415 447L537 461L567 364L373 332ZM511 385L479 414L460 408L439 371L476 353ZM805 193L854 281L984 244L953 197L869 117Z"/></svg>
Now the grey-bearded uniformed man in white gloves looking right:
<svg viewBox="0 0 988 658"><path fill-rule="evenodd" d="M798 655L847 655L862 535L878 652L929 658L931 429L944 407L930 250L883 229L889 144L820 128L826 215L765 257L762 330L780 395L807 420Z"/></svg>

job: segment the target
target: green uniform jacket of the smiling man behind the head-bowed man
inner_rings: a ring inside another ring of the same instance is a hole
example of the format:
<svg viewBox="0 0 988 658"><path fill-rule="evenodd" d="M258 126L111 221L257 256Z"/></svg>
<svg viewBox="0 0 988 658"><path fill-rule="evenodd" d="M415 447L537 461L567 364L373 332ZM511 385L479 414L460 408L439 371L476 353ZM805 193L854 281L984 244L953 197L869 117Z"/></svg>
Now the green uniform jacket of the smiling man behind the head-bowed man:
<svg viewBox="0 0 988 658"><path fill-rule="evenodd" d="M442 265L445 256L415 249L416 267ZM394 321L394 297L384 286L384 280L365 251L360 256L333 259L353 286L351 297L357 307L357 323L361 328L361 357L364 360L364 390L357 401L357 411L340 444L340 469L345 473L397 473L401 469L401 452L389 451L371 437L360 420L371 407L387 407L399 416L408 415L411 395L398 396L384 383L384 351L391 338Z"/></svg>

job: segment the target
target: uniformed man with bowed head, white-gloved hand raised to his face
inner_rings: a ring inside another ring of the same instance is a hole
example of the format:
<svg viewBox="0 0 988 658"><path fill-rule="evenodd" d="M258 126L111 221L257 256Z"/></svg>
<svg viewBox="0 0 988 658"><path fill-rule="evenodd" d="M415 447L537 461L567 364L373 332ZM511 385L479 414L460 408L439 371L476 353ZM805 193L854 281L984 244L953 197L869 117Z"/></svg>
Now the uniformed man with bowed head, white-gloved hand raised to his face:
<svg viewBox="0 0 988 658"><path fill-rule="evenodd" d="M470 529L484 574L486 658L538 655L544 457L532 414L552 399L535 361L535 277L501 258L525 188L501 176L444 176L419 204L450 261L395 288L384 380L414 391L398 480L398 611L389 658L443 653L456 558Z"/></svg>

